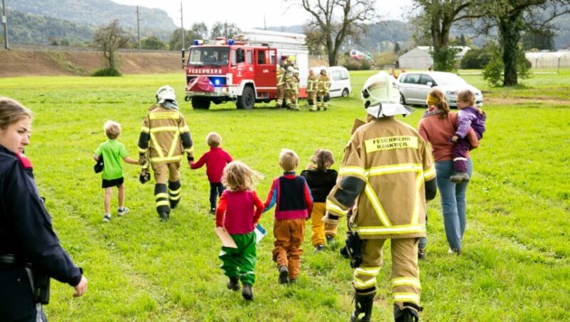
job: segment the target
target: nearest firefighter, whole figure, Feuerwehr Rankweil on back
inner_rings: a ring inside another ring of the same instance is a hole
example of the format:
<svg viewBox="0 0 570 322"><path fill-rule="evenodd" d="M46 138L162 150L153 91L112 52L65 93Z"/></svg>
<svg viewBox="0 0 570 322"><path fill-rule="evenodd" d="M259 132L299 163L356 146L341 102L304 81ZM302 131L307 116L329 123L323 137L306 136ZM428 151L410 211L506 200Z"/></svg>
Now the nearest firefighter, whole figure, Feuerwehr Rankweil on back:
<svg viewBox="0 0 570 322"><path fill-rule="evenodd" d="M354 130L326 199L324 222L337 224L352 212L347 246L356 308L351 321L371 319L386 239L391 239L395 321L418 321L421 311L418 241L425 237L425 202L435 197L435 167L418 132L394 118L413 110L398 103L393 81L380 72L364 83L368 122Z"/></svg>

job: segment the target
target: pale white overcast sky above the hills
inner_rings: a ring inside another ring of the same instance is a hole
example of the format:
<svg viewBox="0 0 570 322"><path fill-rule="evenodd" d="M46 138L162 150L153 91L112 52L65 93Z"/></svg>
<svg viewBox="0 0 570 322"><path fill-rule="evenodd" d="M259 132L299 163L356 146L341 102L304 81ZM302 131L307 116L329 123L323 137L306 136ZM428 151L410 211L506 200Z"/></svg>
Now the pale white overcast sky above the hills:
<svg viewBox="0 0 570 322"><path fill-rule="evenodd" d="M180 26L181 0L111 0L118 4L129 4L158 8L167 12L177 26ZM412 0L377 0L376 12L383 19L403 20ZM215 22L234 23L239 28L263 28L264 26L295 26L304 24L309 15L296 0L209 0L182 1L184 26L190 28L195 22L204 22L212 28Z"/></svg>

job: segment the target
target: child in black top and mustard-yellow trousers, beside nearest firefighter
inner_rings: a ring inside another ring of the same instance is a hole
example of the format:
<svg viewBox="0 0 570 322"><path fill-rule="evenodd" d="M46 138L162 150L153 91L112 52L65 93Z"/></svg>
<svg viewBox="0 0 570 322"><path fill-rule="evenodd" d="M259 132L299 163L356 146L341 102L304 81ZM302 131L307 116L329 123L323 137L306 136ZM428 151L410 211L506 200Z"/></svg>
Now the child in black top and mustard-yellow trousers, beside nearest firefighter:
<svg viewBox="0 0 570 322"><path fill-rule="evenodd" d="M331 244L336 236L336 225L325 224L321 218L326 212L326 196L331 192L335 183L338 173L330 169L334 163L333 153L329 150L317 149L315 154L311 157L311 164L307 170L301 172L301 176L305 177L309 188L311 188L311 195L313 196L313 212L311 212L311 242L315 247L315 252L322 251L326 243Z"/></svg>

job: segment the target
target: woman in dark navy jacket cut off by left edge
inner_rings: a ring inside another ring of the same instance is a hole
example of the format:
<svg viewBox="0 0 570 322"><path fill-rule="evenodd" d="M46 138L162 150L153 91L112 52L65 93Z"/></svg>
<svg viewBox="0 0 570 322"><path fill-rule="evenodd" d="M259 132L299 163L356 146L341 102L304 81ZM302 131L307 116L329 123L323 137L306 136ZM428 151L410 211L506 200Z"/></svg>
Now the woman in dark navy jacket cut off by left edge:
<svg viewBox="0 0 570 322"><path fill-rule="evenodd" d="M48 279L67 283L82 296L87 279L61 247L38 194L29 143L31 112L16 100L0 98L0 320L46 321ZM40 276L43 279L40 287ZM35 284L35 285L34 285ZM33 291L41 289L40 292Z"/></svg>

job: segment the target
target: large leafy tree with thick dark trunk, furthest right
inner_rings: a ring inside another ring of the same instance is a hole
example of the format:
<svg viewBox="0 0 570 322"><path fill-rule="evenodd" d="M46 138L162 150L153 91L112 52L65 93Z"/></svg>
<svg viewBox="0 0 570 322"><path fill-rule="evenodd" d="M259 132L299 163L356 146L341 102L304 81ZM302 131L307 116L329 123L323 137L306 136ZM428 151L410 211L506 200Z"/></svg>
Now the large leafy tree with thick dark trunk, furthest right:
<svg viewBox="0 0 570 322"><path fill-rule="evenodd" d="M502 56L503 85L519 83L519 73L527 66L521 38L525 30L539 31L551 28L552 19L570 12L570 0L495 0L474 8L482 17L482 31L493 28L499 33Z"/></svg>

